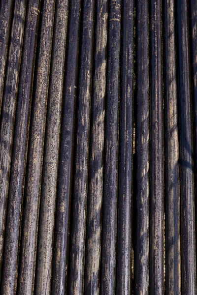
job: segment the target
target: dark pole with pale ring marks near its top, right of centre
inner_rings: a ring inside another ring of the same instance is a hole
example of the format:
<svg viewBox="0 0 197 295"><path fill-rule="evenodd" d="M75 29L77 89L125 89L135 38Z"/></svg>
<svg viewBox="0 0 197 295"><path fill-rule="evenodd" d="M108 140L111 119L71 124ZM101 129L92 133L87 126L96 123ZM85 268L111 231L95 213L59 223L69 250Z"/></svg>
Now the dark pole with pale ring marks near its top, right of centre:
<svg viewBox="0 0 197 295"><path fill-rule="evenodd" d="M101 295L115 294L120 101L121 2L109 1L103 167Z"/></svg>

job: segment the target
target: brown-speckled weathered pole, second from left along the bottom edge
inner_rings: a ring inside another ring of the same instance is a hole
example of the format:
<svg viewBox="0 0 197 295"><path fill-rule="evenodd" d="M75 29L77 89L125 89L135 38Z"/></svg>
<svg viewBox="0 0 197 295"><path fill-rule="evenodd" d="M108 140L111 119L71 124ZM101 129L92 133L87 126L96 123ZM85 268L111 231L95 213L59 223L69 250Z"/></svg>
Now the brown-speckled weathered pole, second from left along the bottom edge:
<svg viewBox="0 0 197 295"><path fill-rule="evenodd" d="M18 294L33 294L44 132L48 97L55 1L42 2L41 32L35 70ZM43 245L44 247L44 245Z"/></svg>

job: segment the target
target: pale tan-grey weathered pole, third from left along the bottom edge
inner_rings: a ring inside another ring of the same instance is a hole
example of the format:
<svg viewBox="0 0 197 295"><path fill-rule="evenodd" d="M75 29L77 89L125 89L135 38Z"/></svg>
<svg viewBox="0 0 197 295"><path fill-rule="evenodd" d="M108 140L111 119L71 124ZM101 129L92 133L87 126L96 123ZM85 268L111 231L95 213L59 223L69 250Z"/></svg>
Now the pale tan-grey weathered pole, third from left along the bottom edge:
<svg viewBox="0 0 197 295"><path fill-rule="evenodd" d="M68 1L56 1L35 272L37 295L51 290L67 14Z"/></svg>

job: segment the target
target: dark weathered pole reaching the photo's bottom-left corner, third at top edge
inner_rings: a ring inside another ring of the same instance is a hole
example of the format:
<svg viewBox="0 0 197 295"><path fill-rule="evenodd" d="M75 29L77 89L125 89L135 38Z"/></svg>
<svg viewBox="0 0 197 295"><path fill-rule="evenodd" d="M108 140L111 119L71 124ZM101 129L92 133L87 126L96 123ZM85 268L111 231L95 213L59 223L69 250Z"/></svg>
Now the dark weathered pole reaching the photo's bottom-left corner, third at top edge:
<svg viewBox="0 0 197 295"><path fill-rule="evenodd" d="M16 294L21 206L26 172L39 6L39 0L31 0L27 7L9 181L1 276L2 294Z"/></svg>

